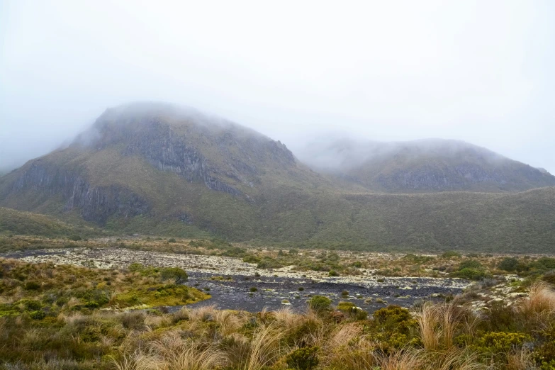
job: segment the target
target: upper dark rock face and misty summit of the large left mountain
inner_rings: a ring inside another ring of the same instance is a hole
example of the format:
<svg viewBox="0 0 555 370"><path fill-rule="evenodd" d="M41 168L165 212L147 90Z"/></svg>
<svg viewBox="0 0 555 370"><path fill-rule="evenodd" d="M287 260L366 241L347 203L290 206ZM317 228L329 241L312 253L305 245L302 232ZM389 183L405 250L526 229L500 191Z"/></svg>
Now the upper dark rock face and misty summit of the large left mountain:
<svg viewBox="0 0 555 370"><path fill-rule="evenodd" d="M295 164L293 153L281 142L233 123L182 112L168 118L129 109L103 113L94 124L96 135L89 146L103 150L123 144L123 155L140 155L157 169L246 198L250 197L232 183L252 187L267 165L286 168Z"/></svg>

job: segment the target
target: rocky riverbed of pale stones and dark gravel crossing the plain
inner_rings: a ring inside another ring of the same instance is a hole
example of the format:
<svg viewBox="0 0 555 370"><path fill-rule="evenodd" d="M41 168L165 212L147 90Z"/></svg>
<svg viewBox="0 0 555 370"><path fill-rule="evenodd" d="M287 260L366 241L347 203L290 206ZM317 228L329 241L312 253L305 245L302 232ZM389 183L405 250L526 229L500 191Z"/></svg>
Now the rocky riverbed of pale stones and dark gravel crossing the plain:
<svg viewBox="0 0 555 370"><path fill-rule="evenodd" d="M373 312L386 304L405 307L425 299L460 293L469 281L449 278L386 277L374 271L360 275L325 276L293 267L258 269L233 257L172 254L118 248L74 248L12 252L2 257L27 262L53 262L101 269L128 267L133 262L159 267L181 267L189 273L188 285L206 290L212 298L198 305L222 309L271 310L291 306L303 310L310 296L327 296L335 303L352 301Z"/></svg>

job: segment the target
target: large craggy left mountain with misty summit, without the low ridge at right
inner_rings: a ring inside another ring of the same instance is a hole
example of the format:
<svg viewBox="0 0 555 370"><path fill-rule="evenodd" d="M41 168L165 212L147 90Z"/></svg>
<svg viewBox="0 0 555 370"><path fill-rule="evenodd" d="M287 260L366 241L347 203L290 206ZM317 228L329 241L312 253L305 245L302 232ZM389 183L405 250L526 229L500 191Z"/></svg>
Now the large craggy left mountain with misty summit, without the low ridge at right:
<svg viewBox="0 0 555 370"><path fill-rule="evenodd" d="M191 109L135 103L1 177L0 205L117 230L250 239L278 208L324 188L333 191L281 142Z"/></svg>

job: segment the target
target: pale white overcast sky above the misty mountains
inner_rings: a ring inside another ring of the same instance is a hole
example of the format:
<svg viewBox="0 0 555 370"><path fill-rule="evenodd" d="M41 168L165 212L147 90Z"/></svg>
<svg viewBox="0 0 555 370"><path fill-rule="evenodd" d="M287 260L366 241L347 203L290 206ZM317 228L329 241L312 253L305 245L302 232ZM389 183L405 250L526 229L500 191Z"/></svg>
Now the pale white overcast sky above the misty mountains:
<svg viewBox="0 0 555 370"><path fill-rule="evenodd" d="M555 1L0 0L0 168L108 106L281 140L452 138L555 173Z"/></svg>

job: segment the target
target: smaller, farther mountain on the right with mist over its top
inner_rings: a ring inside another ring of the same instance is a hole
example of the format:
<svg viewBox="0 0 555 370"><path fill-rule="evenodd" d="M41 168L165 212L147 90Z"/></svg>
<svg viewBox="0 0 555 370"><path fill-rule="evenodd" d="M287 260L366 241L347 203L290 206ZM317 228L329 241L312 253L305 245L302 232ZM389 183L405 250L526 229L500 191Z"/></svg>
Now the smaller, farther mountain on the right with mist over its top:
<svg viewBox="0 0 555 370"><path fill-rule="evenodd" d="M315 169L386 193L524 191L555 186L544 169L456 140L313 144L303 153Z"/></svg>

